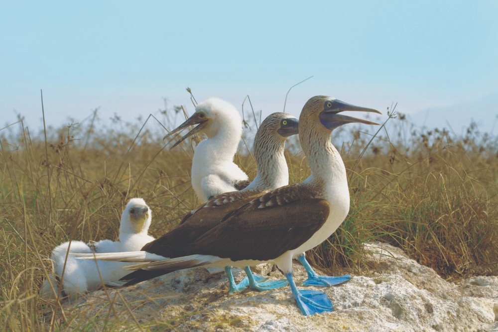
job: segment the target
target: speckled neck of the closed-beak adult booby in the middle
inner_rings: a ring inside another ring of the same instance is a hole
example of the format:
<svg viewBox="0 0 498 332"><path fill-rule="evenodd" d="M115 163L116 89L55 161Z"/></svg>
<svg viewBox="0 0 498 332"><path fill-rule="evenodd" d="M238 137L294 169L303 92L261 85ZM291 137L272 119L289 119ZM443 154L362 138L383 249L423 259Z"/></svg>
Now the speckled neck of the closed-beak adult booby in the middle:
<svg viewBox="0 0 498 332"><path fill-rule="evenodd" d="M254 138L257 175L245 190L273 190L289 184L289 169L284 156L284 139Z"/></svg>

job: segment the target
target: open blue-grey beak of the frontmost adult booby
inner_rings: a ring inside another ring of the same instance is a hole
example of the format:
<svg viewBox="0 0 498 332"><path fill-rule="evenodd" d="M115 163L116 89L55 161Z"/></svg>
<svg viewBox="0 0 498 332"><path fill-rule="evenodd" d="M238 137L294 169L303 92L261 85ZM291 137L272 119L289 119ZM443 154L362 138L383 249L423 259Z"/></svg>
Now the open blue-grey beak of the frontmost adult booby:
<svg viewBox="0 0 498 332"><path fill-rule="evenodd" d="M361 111L361 112L382 114L381 112L374 109L368 109L365 107L351 105L336 99L333 101L326 102L324 105L324 110L320 112L318 117L320 119L320 122L322 122L322 124L328 129L334 129L343 124L352 123L352 122L359 122L365 124L378 124L376 122L359 119L357 117L338 114L343 111Z"/></svg>

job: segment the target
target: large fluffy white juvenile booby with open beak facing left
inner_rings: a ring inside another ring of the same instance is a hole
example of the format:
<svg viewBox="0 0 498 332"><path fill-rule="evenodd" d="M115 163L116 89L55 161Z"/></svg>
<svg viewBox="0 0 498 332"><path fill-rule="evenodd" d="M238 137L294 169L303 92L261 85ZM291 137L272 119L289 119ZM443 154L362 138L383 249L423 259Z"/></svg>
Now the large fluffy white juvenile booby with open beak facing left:
<svg viewBox="0 0 498 332"><path fill-rule="evenodd" d="M205 202L246 187L249 178L234 163L242 136L242 119L237 109L226 101L210 98L199 103L194 114L164 138L195 124L198 125L174 146L194 133L203 133L207 137L197 145L192 158L192 188L197 197Z"/></svg>

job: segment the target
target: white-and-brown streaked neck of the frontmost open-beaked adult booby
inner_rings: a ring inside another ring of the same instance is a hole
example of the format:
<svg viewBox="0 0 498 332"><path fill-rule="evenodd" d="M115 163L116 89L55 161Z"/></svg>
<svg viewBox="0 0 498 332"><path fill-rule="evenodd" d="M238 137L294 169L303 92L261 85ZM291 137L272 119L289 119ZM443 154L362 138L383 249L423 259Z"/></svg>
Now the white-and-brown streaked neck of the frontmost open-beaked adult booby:
<svg viewBox="0 0 498 332"><path fill-rule="evenodd" d="M299 136L300 139L303 138L301 146L311 170L311 176L306 182L317 187L317 192L323 195L322 198L329 201L337 194L347 196L349 206L346 168L339 151L330 141L330 132L312 128L299 133ZM313 139L309 139L310 137Z"/></svg>

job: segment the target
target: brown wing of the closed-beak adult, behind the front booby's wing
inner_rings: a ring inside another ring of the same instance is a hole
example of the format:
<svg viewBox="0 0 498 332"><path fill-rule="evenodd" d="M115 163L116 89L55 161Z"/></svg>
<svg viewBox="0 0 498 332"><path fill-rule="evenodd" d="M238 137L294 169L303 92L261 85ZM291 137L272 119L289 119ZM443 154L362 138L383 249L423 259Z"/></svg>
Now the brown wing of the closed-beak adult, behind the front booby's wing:
<svg viewBox="0 0 498 332"><path fill-rule="evenodd" d="M231 192L218 195L201 207L183 217L180 224L145 244L142 250L164 257L174 258L188 255L192 242L199 236L217 226L228 213L239 209L253 199L261 196L259 191Z"/></svg>

